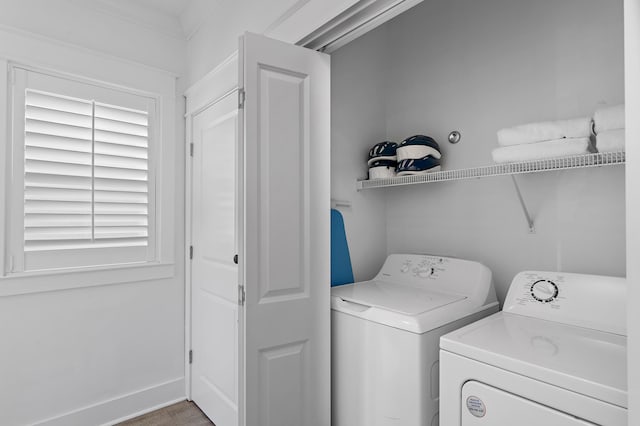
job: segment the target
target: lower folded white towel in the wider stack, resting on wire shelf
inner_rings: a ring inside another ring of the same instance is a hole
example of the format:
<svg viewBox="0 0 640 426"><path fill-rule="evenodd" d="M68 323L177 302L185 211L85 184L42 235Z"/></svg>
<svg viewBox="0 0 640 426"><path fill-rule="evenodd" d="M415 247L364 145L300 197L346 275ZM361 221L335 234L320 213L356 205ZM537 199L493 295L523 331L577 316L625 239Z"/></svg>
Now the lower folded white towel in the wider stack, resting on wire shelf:
<svg viewBox="0 0 640 426"><path fill-rule="evenodd" d="M593 151L589 138L564 138L551 141L503 146L491 152L496 163L544 160L568 155L588 154Z"/></svg>

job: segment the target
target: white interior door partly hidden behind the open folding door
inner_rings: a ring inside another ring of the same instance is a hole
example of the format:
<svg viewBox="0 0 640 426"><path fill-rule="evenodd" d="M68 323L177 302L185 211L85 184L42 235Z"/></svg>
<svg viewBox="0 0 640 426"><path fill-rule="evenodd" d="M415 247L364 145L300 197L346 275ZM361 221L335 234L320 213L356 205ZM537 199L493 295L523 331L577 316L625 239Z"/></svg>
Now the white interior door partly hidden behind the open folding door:
<svg viewBox="0 0 640 426"><path fill-rule="evenodd" d="M234 92L192 120L191 398L216 424L238 424L238 267Z"/></svg>

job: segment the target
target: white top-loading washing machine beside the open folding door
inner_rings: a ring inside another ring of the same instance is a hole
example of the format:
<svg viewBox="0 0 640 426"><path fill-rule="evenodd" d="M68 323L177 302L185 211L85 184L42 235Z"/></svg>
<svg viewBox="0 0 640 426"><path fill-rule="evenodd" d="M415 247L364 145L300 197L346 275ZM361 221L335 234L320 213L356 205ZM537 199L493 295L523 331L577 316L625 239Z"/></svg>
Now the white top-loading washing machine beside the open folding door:
<svg viewBox="0 0 640 426"><path fill-rule="evenodd" d="M331 289L333 426L438 424L438 341L497 312L491 271L392 254L371 281Z"/></svg>

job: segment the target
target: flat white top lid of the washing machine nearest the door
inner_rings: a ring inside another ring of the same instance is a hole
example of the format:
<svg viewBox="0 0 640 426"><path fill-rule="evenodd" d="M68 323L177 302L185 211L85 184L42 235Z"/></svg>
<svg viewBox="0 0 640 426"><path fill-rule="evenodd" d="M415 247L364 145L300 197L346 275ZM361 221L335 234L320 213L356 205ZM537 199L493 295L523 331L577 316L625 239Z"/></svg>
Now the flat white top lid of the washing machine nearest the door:
<svg viewBox="0 0 640 426"><path fill-rule="evenodd" d="M374 307L407 316L416 316L440 308L464 296L438 293L425 288L384 281L364 281L353 285L334 287L331 295L343 301Z"/></svg>

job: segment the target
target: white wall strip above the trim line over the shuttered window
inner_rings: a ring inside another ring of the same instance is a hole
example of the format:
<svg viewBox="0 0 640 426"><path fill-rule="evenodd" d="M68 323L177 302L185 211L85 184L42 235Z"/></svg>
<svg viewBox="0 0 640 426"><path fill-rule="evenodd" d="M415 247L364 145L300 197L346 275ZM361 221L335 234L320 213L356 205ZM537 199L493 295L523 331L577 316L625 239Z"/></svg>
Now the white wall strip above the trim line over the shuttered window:
<svg viewBox="0 0 640 426"><path fill-rule="evenodd" d="M184 74L177 19L112 0L0 0L0 26Z"/></svg>

